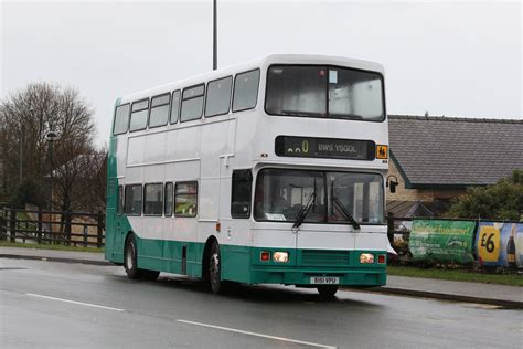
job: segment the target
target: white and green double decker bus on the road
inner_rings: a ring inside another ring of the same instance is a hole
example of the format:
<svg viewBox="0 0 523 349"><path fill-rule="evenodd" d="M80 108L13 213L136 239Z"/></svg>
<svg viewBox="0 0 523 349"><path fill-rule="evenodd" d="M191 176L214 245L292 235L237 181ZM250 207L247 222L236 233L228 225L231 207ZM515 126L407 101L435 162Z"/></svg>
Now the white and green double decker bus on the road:
<svg viewBox="0 0 523 349"><path fill-rule="evenodd" d="M116 102L106 248L160 272L333 296L386 282L380 64L269 55Z"/></svg>

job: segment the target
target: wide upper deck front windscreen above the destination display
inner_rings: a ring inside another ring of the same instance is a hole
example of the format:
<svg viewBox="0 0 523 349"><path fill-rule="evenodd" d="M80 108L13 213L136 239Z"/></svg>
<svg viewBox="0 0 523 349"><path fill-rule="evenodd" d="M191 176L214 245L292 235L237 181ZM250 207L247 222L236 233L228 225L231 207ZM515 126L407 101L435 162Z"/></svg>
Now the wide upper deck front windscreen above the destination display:
<svg viewBox="0 0 523 349"><path fill-rule="evenodd" d="M384 119L378 73L318 65L273 65L265 110L270 115Z"/></svg>

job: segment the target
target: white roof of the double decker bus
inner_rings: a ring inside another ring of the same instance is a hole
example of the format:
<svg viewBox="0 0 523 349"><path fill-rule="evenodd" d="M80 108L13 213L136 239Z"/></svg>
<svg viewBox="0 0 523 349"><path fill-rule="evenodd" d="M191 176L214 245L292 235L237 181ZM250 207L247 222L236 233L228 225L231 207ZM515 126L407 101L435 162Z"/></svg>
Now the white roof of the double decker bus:
<svg viewBox="0 0 523 349"><path fill-rule="evenodd" d="M339 65L363 71L378 72L382 75L384 74L384 70L381 64L370 61L317 54L269 54L244 63L221 67L216 71L211 71L177 82L171 82L152 88L128 94L122 96L118 104L143 99L147 97L160 95L167 92L172 92L179 88L185 88L201 83L206 83L216 78L221 78L227 75L234 75L249 70L265 68L271 64Z"/></svg>

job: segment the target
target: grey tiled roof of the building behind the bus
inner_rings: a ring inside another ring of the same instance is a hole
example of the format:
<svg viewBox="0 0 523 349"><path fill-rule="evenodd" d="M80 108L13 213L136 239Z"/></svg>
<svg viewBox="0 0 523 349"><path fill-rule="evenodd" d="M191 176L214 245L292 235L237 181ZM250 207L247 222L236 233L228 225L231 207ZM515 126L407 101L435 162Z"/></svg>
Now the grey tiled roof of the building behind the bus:
<svg viewBox="0 0 523 349"><path fill-rule="evenodd" d="M492 184L523 169L523 120L388 116L393 160L407 184Z"/></svg>

